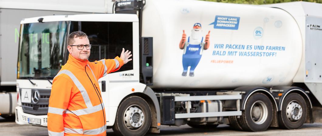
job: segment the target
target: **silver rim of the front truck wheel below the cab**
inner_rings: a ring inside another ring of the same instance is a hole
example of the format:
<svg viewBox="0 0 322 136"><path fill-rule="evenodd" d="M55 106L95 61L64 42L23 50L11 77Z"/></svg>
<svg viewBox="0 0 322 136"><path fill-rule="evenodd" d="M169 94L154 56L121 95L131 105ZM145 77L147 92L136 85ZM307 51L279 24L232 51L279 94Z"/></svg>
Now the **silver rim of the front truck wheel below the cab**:
<svg viewBox="0 0 322 136"><path fill-rule="evenodd" d="M124 124L130 130L139 129L145 122L144 112L138 105L131 105L126 108L123 116Z"/></svg>

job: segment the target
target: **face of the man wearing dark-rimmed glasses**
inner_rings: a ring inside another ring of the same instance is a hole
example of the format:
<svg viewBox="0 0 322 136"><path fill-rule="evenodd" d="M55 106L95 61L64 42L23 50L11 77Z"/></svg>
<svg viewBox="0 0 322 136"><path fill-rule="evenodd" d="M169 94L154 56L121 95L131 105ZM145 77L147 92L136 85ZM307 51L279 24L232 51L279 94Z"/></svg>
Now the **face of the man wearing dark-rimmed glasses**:
<svg viewBox="0 0 322 136"><path fill-rule="evenodd" d="M77 37L74 38L74 40L75 42L73 45L90 44L90 41L87 37ZM77 60L86 61L88 57L90 57L90 50L87 50L85 46L83 50L78 50L77 46L67 46L67 49L71 56Z"/></svg>

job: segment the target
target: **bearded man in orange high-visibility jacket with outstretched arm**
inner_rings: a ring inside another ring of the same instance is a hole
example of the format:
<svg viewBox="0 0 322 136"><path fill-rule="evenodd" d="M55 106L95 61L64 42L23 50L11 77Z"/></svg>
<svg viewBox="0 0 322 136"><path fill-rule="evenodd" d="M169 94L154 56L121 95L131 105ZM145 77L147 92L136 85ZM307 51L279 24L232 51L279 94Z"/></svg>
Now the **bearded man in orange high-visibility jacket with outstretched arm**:
<svg viewBox="0 0 322 136"><path fill-rule="evenodd" d="M71 33L67 41L67 63L52 83L48 134L105 136L105 109L97 80L131 61L132 54L123 48L120 58L89 62L91 44L84 32Z"/></svg>

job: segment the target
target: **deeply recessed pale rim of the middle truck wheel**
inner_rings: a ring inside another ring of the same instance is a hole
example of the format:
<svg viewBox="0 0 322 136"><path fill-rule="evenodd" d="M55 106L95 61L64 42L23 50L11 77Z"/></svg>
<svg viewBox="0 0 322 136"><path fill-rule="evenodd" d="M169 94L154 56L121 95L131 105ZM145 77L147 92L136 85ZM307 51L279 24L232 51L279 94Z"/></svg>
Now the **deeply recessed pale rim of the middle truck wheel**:
<svg viewBox="0 0 322 136"><path fill-rule="evenodd" d="M268 109L266 104L258 100L251 106L251 120L256 124L263 124L268 116Z"/></svg>

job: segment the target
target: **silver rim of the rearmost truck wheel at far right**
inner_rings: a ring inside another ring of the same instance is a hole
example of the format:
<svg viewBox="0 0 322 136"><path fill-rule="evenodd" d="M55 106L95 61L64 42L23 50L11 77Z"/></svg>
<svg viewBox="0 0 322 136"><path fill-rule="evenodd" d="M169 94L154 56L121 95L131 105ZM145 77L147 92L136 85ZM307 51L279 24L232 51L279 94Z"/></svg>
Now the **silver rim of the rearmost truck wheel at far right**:
<svg viewBox="0 0 322 136"><path fill-rule="evenodd" d="M292 100L286 107L286 116L287 118L292 121L296 122L301 119L303 115L303 109L298 101Z"/></svg>

